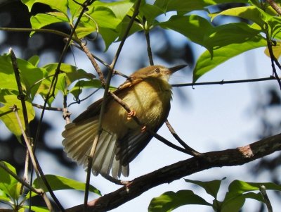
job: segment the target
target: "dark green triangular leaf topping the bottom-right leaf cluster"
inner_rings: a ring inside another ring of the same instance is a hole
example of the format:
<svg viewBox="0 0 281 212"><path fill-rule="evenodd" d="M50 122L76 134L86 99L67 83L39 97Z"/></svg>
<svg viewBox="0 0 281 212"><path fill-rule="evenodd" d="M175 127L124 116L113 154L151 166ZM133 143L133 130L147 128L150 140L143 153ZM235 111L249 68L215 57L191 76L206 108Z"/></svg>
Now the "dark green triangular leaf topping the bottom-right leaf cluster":
<svg viewBox="0 0 281 212"><path fill-rule="evenodd" d="M225 179L226 179L226 177L224 177L222 180L225 180ZM185 179L185 182L190 182L195 185L199 185L200 187L205 189L205 191L208 194L210 194L212 197L214 197L216 199L216 195L218 194L218 189L221 187L222 180L212 180L212 181L203 182L203 181L199 181L199 180Z"/></svg>

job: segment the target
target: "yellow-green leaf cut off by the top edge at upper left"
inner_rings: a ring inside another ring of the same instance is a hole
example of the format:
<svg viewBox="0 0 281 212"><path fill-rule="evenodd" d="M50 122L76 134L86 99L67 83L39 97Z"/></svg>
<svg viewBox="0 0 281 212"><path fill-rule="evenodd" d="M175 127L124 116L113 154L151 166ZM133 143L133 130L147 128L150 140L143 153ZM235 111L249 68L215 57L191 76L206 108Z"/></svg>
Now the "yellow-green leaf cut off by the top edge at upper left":
<svg viewBox="0 0 281 212"><path fill-rule="evenodd" d="M42 3L51 6L51 8L65 13L67 15L67 0L21 0L25 4L29 11L31 11L33 4Z"/></svg>

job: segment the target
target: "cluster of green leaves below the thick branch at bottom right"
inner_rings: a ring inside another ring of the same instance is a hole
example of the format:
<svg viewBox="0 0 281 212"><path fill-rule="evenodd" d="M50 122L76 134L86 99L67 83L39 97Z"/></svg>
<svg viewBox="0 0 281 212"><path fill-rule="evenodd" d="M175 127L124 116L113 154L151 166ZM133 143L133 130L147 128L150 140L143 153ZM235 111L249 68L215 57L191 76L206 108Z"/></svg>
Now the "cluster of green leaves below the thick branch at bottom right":
<svg viewBox="0 0 281 212"><path fill-rule="evenodd" d="M225 178L223 178L224 180ZM192 184L202 187L207 194L214 197L213 203L209 203L202 199L202 197L194 194L191 190L181 190L178 192L165 192L159 197L155 197L151 200L148 211L160 212L160 211L173 211L175 208L184 206L186 204L198 204L210 206L214 211L240 211L246 199L255 199L257 201L265 202L261 192L256 193L261 189L261 186L266 187L268 190L281 191L280 185L276 185L272 182L244 182L241 180L234 180L228 186L228 192L226 193L223 201L218 201L217 194L221 187L222 180L212 180L209 182L202 182L197 180L187 180Z"/></svg>

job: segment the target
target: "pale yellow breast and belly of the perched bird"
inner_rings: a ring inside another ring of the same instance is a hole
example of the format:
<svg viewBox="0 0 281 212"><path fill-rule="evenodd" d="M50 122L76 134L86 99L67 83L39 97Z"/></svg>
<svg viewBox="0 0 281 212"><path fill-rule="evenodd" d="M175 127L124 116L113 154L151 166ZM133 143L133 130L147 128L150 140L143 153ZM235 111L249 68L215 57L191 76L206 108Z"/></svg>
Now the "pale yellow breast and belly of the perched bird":
<svg viewBox="0 0 281 212"><path fill-rule="evenodd" d="M171 85L166 81L144 80L120 91L117 96L136 112L141 123L155 129L164 123L169 114ZM140 130L140 126L133 118L128 118L126 110L116 101L108 105L103 118L103 127L117 133L119 137L124 136L129 129Z"/></svg>

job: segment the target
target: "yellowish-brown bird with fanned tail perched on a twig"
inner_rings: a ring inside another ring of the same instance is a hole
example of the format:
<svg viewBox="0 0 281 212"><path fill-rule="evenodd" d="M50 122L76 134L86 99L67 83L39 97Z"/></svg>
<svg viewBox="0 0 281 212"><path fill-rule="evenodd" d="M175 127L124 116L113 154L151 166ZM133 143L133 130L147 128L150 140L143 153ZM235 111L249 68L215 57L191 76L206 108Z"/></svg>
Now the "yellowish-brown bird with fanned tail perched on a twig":
<svg viewBox="0 0 281 212"><path fill-rule="evenodd" d="M185 66L147 66L130 75L113 92L129 106L130 113L110 95L91 104L72 123L65 125L62 135L67 156L87 168L93 140L98 134L100 108L105 101L92 173L111 175L115 179L121 174L128 177L129 163L153 137L149 130L157 132L169 115L172 99L170 76ZM145 127L136 123L132 116L136 116Z"/></svg>

